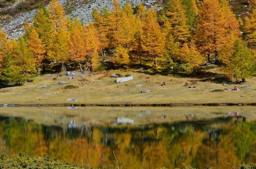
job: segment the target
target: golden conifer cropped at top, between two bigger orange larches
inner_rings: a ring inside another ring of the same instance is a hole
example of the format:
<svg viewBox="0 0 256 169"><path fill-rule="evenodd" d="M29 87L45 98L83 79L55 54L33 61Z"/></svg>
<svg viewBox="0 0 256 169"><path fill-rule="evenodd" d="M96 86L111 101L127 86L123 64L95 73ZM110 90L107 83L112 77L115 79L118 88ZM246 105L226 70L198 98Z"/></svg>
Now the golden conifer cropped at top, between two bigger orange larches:
<svg viewBox="0 0 256 169"><path fill-rule="evenodd" d="M170 24L172 35L180 45L189 40L189 29L181 1L170 0L166 12L167 24Z"/></svg>

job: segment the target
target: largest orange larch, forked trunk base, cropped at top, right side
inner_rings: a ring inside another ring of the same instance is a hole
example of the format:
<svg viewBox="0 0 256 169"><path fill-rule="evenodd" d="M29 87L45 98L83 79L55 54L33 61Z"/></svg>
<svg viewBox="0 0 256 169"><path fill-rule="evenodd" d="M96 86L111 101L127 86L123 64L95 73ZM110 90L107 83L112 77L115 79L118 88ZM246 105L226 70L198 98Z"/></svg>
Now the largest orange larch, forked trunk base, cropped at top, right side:
<svg viewBox="0 0 256 169"><path fill-rule="evenodd" d="M195 33L196 44L201 53L215 55L218 61L219 52L226 37L223 12L217 0L205 0L199 12Z"/></svg>

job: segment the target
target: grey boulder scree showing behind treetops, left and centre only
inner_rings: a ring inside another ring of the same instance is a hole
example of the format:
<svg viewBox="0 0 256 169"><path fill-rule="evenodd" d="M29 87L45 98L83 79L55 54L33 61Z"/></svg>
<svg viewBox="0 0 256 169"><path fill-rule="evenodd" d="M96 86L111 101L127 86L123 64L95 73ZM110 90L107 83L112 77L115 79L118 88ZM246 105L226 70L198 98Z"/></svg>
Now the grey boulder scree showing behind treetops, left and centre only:
<svg viewBox="0 0 256 169"><path fill-rule="evenodd" d="M0 0L2 3L5 1L6 0ZM7 33L8 38L17 38L19 35L23 34L25 21L32 22L37 12L38 8L30 9L26 12L16 11L15 9L24 2L26 2L26 0L18 0L13 3L8 3L8 5L4 7L0 6L0 13L6 13L4 16L0 17L0 27ZM121 6L126 2L130 2L133 7L143 3L147 8L154 7L156 10L159 10L162 8L163 1L119 0L119 2ZM44 0L44 3L48 4L49 1ZM65 12L68 17L73 18L77 16L84 23L88 23L92 20L91 15L94 8L99 10L103 7L108 10L112 8L112 0L60 0L60 3L65 7Z"/></svg>

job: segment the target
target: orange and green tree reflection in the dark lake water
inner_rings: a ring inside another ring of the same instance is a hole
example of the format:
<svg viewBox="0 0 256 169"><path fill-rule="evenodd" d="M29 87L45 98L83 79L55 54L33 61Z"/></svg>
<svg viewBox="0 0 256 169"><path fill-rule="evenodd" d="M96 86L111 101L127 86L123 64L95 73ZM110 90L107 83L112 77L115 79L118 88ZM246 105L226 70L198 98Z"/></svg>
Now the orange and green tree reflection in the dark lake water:
<svg viewBox="0 0 256 169"><path fill-rule="evenodd" d="M10 154L50 155L91 167L114 167L114 151L124 168L174 168L180 162L197 168L227 168L227 162L255 162L255 127L255 123L228 119L219 125L179 122L62 129L1 118L0 146Z"/></svg>

